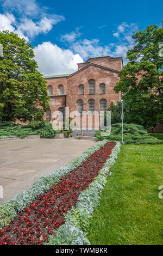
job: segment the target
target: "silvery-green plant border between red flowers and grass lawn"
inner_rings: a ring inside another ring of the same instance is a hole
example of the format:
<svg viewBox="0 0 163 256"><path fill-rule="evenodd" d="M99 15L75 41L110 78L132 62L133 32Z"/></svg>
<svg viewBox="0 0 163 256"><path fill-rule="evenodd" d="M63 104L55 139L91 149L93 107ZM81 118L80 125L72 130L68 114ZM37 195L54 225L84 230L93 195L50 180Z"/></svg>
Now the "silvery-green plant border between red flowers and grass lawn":
<svg viewBox="0 0 163 256"><path fill-rule="evenodd" d="M76 208L73 207L65 214L65 224L55 231L55 235L49 236L49 241L44 245L90 245L85 231L93 210L99 205L102 190L107 182L106 176L111 175L110 167L115 163L120 148L121 143L116 142L98 176L86 190L79 194Z"/></svg>

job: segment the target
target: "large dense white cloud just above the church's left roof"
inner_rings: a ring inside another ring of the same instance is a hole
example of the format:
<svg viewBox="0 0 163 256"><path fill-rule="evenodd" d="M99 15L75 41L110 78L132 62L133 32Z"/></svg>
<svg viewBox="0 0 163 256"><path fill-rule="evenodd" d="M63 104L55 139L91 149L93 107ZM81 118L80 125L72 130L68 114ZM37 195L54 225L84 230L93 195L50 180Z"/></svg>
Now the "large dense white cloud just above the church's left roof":
<svg viewBox="0 0 163 256"><path fill-rule="evenodd" d="M71 74L77 71L77 63L83 62L79 54L65 50L52 42L43 42L34 48L39 72L43 75Z"/></svg>

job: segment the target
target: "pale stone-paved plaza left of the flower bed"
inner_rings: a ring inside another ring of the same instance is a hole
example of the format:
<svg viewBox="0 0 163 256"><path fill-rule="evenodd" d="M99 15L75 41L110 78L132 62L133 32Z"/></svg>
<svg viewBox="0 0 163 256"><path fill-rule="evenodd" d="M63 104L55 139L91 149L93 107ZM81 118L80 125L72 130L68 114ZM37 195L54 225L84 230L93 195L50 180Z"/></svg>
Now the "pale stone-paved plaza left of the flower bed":
<svg viewBox="0 0 163 256"><path fill-rule="evenodd" d="M93 145L95 142L82 139L0 141L0 204L32 186L36 176L53 173Z"/></svg>

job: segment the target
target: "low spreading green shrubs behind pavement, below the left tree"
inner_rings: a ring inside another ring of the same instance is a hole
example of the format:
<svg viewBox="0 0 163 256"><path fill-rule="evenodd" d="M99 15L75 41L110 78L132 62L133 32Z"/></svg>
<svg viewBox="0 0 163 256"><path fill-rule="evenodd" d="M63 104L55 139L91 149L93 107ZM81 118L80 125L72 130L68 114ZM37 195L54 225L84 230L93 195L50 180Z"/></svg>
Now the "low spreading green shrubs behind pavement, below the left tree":
<svg viewBox="0 0 163 256"><path fill-rule="evenodd" d="M15 124L0 124L0 138L5 137L26 137L27 135L40 135L41 138L54 137L57 131L53 130L52 124L45 123L37 127Z"/></svg>

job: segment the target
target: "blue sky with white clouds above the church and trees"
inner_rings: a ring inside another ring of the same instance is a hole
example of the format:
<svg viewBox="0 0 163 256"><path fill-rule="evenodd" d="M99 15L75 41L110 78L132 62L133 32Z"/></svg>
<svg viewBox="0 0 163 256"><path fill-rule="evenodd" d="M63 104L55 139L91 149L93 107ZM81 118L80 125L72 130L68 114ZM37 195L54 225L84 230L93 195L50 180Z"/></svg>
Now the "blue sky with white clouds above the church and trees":
<svg viewBox="0 0 163 256"><path fill-rule="evenodd" d="M0 0L0 31L8 29L34 46L43 75L69 74L90 57L123 57L131 35L161 26L162 1Z"/></svg>

